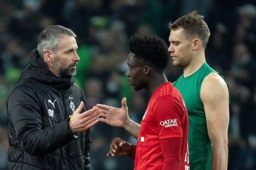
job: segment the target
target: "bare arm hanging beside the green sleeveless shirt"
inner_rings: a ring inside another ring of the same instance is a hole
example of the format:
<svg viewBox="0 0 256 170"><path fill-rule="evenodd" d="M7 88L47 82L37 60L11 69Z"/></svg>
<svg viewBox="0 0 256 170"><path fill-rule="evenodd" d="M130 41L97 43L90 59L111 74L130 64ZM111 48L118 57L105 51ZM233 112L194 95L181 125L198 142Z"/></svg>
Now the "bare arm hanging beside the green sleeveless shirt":
<svg viewBox="0 0 256 170"><path fill-rule="evenodd" d="M229 92L221 76L210 73L205 77L201 86L201 101L212 145L212 170L227 170Z"/></svg>

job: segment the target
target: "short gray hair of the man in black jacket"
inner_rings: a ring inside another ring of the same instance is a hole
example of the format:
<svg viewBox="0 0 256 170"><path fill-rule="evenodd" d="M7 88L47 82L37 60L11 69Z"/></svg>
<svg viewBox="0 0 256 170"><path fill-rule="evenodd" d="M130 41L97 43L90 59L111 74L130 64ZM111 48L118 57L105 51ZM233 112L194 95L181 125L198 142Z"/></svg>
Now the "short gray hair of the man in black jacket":
<svg viewBox="0 0 256 170"><path fill-rule="evenodd" d="M76 34L74 34L71 29L58 25L48 26L40 33L37 42L37 50L42 58L44 57L45 50L57 51L61 35L70 35L76 38Z"/></svg>

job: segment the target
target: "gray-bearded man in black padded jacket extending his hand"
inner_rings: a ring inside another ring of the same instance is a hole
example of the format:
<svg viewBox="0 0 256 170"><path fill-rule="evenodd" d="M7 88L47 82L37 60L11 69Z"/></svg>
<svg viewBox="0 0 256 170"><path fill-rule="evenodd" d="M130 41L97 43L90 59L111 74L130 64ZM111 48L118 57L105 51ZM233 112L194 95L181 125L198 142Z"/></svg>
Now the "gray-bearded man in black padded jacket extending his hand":
<svg viewBox="0 0 256 170"><path fill-rule="evenodd" d="M89 128L98 123L100 110L86 109L74 83L80 60L75 38L63 26L39 35L7 102L9 170L90 170Z"/></svg>

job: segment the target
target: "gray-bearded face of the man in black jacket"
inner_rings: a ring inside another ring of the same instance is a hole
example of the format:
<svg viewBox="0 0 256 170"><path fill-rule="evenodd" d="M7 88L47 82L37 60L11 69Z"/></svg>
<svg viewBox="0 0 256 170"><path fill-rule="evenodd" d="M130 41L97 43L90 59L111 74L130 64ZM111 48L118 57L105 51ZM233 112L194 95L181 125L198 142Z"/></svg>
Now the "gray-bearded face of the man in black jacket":
<svg viewBox="0 0 256 170"><path fill-rule="evenodd" d="M59 48L53 58L53 68L56 76L70 77L76 75L76 65L80 60L78 47L73 36L62 35Z"/></svg>

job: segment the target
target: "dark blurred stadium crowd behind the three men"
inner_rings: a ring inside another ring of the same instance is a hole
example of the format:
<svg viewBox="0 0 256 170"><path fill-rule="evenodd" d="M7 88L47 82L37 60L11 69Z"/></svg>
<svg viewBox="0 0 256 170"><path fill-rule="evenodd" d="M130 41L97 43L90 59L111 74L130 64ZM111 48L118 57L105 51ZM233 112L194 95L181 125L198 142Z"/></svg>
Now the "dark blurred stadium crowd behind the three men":
<svg viewBox="0 0 256 170"><path fill-rule="evenodd" d="M127 97L129 116L138 123L149 96L129 86L128 39L154 34L168 43L168 23L197 9L210 27L206 60L229 85L229 170L256 169L256 1L255 0L0 0L0 170L6 170L8 123L6 100L29 63L37 37L50 25L77 34L80 61L75 82L90 109L96 103L121 106ZM174 81L182 68L168 64ZM132 170L128 157L106 157L119 136L137 140L118 127L91 128L91 170Z"/></svg>

